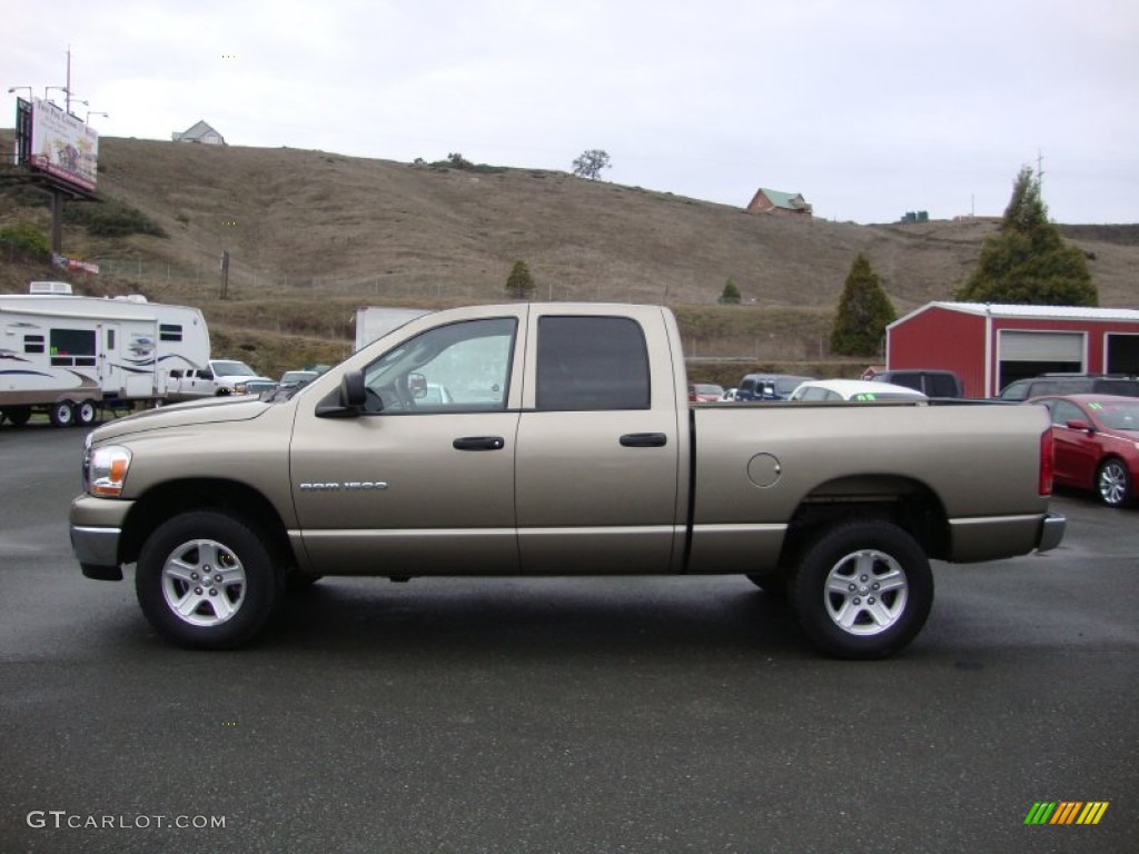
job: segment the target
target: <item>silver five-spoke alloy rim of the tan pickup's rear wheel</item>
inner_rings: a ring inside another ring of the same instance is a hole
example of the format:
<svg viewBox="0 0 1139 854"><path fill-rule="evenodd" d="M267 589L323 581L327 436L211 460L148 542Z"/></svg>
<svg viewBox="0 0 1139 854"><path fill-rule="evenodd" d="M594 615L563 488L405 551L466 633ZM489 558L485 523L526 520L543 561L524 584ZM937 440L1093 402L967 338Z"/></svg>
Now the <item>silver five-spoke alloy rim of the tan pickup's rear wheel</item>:
<svg viewBox="0 0 1139 854"><path fill-rule="evenodd" d="M835 625L849 634L870 635L890 629L906 613L909 583L890 555L853 551L827 574L823 599Z"/></svg>

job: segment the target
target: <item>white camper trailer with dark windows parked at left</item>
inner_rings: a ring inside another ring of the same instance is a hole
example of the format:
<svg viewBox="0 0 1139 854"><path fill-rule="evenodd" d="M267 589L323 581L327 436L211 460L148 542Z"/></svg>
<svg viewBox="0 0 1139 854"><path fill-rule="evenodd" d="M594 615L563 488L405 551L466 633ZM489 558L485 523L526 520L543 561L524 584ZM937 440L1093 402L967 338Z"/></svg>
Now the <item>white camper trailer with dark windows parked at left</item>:
<svg viewBox="0 0 1139 854"><path fill-rule="evenodd" d="M171 371L199 370L210 332L197 309L142 296L0 295L0 420L47 412L57 427L89 425L100 405L157 403Z"/></svg>

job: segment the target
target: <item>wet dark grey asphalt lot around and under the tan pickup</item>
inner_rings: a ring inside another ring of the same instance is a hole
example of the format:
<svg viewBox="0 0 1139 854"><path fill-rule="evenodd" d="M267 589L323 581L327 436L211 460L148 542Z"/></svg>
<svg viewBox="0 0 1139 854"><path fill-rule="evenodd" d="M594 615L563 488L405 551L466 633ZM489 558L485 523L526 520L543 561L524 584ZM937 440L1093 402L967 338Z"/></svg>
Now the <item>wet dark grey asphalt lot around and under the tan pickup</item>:
<svg viewBox="0 0 1139 854"><path fill-rule="evenodd" d="M186 652L80 576L82 437L0 428L0 851L1139 851L1139 510L939 566L884 662L732 577L333 578Z"/></svg>

